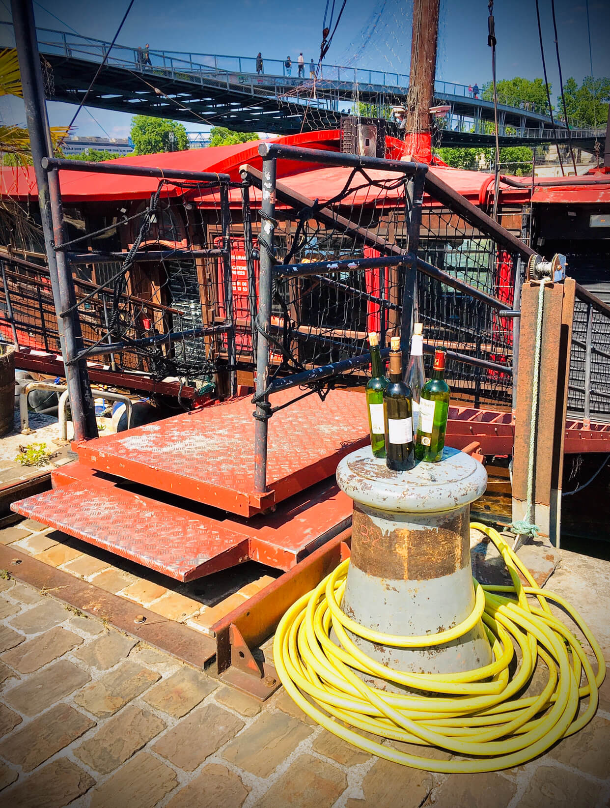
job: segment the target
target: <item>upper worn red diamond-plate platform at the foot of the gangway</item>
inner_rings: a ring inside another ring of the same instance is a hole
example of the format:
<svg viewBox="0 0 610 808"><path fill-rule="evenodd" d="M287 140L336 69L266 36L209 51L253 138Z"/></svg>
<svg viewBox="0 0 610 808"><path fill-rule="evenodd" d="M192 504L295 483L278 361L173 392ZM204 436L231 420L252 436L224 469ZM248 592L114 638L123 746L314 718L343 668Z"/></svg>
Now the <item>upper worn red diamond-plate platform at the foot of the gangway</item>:
<svg viewBox="0 0 610 808"><path fill-rule="evenodd" d="M298 393L272 397L273 406ZM287 499L334 474L368 441L364 396L308 396L269 422L266 494L253 490L255 419L250 398L175 415L78 446L84 465L241 516Z"/></svg>

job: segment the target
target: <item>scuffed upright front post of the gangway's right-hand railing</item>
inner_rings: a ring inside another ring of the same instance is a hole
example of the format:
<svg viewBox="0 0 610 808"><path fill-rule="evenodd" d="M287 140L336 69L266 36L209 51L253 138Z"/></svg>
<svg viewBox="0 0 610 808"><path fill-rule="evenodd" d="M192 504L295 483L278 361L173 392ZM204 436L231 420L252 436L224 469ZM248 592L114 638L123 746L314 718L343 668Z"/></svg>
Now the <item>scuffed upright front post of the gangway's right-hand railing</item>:
<svg viewBox="0 0 610 808"><path fill-rule="evenodd" d="M255 491L267 490L267 421L269 396L269 326L271 324L271 297L273 294L273 266L276 229L276 158L263 157L263 201L260 208L260 276L259 314L256 318L259 330L256 353L256 411L255 411Z"/></svg>

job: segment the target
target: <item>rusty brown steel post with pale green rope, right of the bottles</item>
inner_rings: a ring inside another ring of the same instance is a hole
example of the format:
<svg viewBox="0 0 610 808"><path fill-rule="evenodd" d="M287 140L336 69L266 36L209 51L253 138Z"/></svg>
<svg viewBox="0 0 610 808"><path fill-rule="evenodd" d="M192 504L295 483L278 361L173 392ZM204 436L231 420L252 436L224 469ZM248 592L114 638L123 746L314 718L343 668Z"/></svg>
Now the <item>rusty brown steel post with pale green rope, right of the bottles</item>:
<svg viewBox="0 0 610 808"><path fill-rule="evenodd" d="M533 461L532 520L541 536L560 544L563 444L574 280L546 283L543 297L538 405L532 412L536 318L540 282L527 281L521 290L519 377L515 411L515 448L512 475L512 519L528 519L528 463L530 427L536 424Z"/></svg>

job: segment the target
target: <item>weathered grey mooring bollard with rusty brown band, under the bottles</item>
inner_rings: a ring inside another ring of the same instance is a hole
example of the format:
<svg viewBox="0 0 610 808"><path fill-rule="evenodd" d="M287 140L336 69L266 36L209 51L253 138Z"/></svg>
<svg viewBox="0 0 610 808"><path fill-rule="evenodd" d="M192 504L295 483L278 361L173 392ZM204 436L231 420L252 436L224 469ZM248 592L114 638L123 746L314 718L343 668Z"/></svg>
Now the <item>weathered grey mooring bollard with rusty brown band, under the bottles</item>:
<svg viewBox="0 0 610 808"><path fill-rule="evenodd" d="M343 612L368 629L399 636L440 633L464 621L475 601L469 512L486 489L483 465L445 448L439 463L395 472L367 446L343 458L337 482L354 500ZM365 654L393 670L458 673L492 661L482 621L461 638L423 648L381 646L350 636Z"/></svg>

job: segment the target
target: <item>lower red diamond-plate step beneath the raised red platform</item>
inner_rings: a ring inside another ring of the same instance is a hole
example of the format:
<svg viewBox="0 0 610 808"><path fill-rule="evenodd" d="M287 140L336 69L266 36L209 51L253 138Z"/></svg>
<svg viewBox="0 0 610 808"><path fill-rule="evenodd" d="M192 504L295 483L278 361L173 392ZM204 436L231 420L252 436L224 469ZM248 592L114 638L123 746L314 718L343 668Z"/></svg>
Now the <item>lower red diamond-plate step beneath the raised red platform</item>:
<svg viewBox="0 0 610 808"><path fill-rule="evenodd" d="M351 524L351 499L332 479L250 520L162 503L121 482L71 463L53 471L53 491L12 509L180 581L249 559L289 570Z"/></svg>

